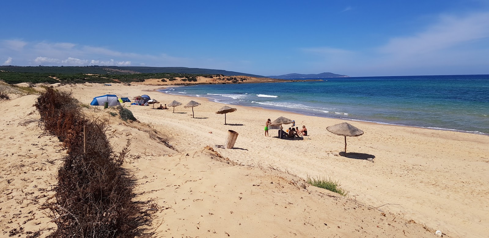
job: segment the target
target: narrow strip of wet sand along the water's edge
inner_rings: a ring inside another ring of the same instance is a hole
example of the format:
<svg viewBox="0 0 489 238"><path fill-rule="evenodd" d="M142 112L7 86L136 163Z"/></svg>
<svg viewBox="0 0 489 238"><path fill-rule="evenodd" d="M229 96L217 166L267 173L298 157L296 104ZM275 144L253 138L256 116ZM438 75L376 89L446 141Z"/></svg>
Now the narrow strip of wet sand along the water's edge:
<svg viewBox="0 0 489 238"><path fill-rule="evenodd" d="M254 83L256 83L256 82L254 82ZM182 87L182 86L193 86L193 85L165 85L164 87L161 87L161 88L158 88L158 89L148 90L148 92L156 91L158 93L162 93L162 94L166 94L166 95L175 95L175 94L161 92L161 91L158 91L158 90L163 90L163 89L166 89L166 88ZM233 105L233 106L240 106L240 107L246 107L246 108L255 108L255 109L270 110L270 111L275 111L275 112L285 112L285 113L292 113L292 114L301 115L301 116L308 116L308 117L338 119L338 120L344 120L344 121L355 121L355 122L359 122L361 124L365 123L365 124L377 124L377 125L387 125L387 126L400 126L400 127L429 129L429 130L436 130L436 131L460 132L460 133L467 133L467 134L474 134L474 135L489 136L488 133L479 132L479 131L477 131L477 132L471 132L471 131L464 131L464 130L458 130L458 129L449 129L449 128L440 128L440 127L425 127L425 126L415 126L415 125L403 125L403 124L394 124L394 123L380 122L380 121L368 121L368 120L363 120L363 119L345 119L345 118L334 118L334 117L320 116L320 115L306 115L306 114L302 114L302 113L298 113L298 112L293 112L293 111L287 111L287 110L281 110L281 109L272 109L272 108L265 108L265 107L260 107L260 106L244 106L244 105L236 105L236 104L226 104L226 103L223 103L223 102L216 102L212 98L204 97L204 96L192 96L192 95L175 95L175 96L185 96L185 97L190 97L190 98L196 98L197 97L197 98L203 98L206 101L220 103L220 104L223 104L223 105Z"/></svg>

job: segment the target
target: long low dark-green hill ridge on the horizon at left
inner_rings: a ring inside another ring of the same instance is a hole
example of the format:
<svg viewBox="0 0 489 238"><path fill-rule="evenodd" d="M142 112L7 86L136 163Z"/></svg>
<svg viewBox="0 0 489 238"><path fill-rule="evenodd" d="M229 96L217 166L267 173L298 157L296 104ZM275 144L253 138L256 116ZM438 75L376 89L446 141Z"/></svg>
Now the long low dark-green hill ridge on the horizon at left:
<svg viewBox="0 0 489 238"><path fill-rule="evenodd" d="M94 73L94 74L132 74L132 73L192 73L192 74L222 74L225 76L264 76L199 68L185 67L138 67L138 66L0 66L1 71L32 72L32 73Z"/></svg>

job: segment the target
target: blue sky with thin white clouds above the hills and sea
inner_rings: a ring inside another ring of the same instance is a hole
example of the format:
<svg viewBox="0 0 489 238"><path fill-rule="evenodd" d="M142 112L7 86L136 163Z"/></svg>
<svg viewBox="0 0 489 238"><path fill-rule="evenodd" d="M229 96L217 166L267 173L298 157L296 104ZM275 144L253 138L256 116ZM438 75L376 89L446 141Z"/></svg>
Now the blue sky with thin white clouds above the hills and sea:
<svg viewBox="0 0 489 238"><path fill-rule="evenodd" d="M5 1L0 65L489 74L489 0Z"/></svg>

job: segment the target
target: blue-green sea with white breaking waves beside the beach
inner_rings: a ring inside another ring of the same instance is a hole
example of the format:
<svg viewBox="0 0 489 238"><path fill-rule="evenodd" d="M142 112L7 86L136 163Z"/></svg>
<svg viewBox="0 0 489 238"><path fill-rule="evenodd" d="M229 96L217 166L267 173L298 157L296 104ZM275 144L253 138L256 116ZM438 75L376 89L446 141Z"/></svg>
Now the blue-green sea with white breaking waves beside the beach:
<svg viewBox="0 0 489 238"><path fill-rule="evenodd" d="M385 76L159 90L304 115L489 135L489 75Z"/></svg>

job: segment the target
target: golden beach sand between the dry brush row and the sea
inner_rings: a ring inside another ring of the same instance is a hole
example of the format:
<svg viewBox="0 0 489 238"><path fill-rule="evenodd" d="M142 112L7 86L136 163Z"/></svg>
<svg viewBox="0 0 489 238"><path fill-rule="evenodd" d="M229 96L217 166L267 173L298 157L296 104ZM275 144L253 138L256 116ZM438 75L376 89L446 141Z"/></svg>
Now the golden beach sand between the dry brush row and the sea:
<svg viewBox="0 0 489 238"><path fill-rule="evenodd" d="M447 237L489 234L488 136L348 121L365 132L347 138L348 152L374 155L372 163L337 156L344 139L326 127L344 120L236 106L224 125L224 116L215 113L223 104L156 92L160 87L86 83L57 89L72 91L84 104L105 94L147 94L162 104L201 103L194 108L195 118L183 105L176 113L128 107L178 151L145 141L148 136L141 130L115 121L112 126L116 148L126 137L133 138L132 153L139 159L127 166L139 178L141 199L155 199L163 208L151 227L161 237L435 237L434 230ZM109 117L93 107L85 110ZM281 116L299 127L306 125L309 136L303 141L280 140L271 130L265 137L266 119ZM206 146L224 143L227 130L239 133L235 148L215 149L223 159L205 153ZM8 167L5 159L2 167ZM350 192L348 199L290 184L308 175L338 180Z"/></svg>

